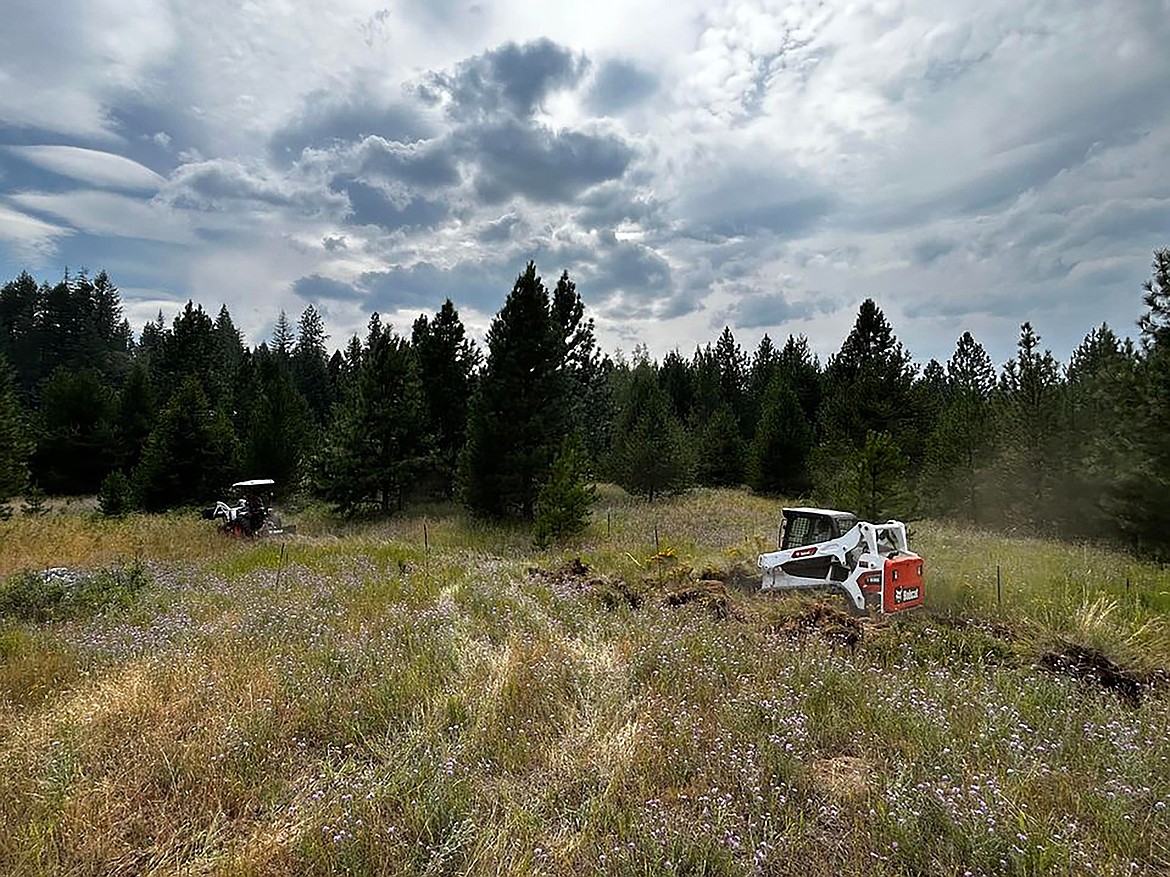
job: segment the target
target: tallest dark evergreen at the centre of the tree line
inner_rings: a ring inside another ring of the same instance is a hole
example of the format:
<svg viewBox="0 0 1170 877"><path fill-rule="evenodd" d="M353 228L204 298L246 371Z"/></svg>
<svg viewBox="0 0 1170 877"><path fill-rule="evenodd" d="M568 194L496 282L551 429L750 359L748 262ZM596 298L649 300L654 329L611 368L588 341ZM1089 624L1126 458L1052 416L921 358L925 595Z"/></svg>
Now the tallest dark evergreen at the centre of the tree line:
<svg viewBox="0 0 1170 877"><path fill-rule="evenodd" d="M572 422L566 372L591 336L581 319L567 276L550 299L529 262L491 322L470 408L460 476L473 512L532 518L539 485Z"/></svg>

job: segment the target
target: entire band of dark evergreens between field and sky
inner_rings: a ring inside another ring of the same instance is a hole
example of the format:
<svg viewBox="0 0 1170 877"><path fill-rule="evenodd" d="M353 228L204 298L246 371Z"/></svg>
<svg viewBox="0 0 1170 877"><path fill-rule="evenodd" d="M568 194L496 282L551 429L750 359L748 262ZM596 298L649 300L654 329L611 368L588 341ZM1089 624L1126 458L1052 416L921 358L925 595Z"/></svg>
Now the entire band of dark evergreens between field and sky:
<svg viewBox="0 0 1170 877"><path fill-rule="evenodd" d="M193 302L136 337L105 272L25 272L0 289L0 500L97 492L111 513L158 511L271 477L343 515L454 497L553 539L581 526L598 479L652 500L746 484L868 519L1163 553L1170 249L1142 302L1136 341L1102 324L1065 364L1025 323L1002 367L970 332L920 365L872 299L825 362L804 336L749 351L728 327L659 361L600 351L569 274L550 288L532 263L483 350L449 299L408 333L374 313L332 351L311 304L254 347L226 306Z"/></svg>

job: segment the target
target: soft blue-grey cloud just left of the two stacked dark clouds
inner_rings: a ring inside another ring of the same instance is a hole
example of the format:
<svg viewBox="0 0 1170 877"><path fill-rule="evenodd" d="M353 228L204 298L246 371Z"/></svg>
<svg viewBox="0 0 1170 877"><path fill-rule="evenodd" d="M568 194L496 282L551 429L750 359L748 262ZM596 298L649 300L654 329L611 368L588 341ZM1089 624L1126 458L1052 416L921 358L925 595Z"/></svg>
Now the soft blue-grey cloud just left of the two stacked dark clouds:
<svg viewBox="0 0 1170 877"><path fill-rule="evenodd" d="M433 133L418 109L378 97L365 88L340 98L316 91L305 98L296 117L273 133L268 150L275 160L291 163L307 149L356 143L371 134L405 143Z"/></svg>

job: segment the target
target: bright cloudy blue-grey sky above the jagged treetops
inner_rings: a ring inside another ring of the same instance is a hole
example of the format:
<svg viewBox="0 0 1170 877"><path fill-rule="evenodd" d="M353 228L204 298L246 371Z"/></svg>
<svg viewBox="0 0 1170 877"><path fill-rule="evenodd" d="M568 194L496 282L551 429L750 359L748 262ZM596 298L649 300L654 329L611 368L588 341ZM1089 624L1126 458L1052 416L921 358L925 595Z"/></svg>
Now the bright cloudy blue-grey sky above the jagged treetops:
<svg viewBox="0 0 1170 877"><path fill-rule="evenodd" d="M1170 246L1170 0L7 0L0 281L106 270L331 345L534 260L606 351L915 359L1133 334Z"/></svg>

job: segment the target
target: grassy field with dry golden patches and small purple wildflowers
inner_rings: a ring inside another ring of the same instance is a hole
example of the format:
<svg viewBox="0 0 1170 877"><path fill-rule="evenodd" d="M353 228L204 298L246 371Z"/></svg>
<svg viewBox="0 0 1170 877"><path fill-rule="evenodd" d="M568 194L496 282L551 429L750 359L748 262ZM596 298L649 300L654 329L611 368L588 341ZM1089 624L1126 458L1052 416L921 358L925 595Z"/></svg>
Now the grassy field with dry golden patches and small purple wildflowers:
<svg viewBox="0 0 1170 877"><path fill-rule="evenodd" d="M1170 573L922 523L856 624L743 583L778 517L0 522L0 873L1170 872Z"/></svg>

